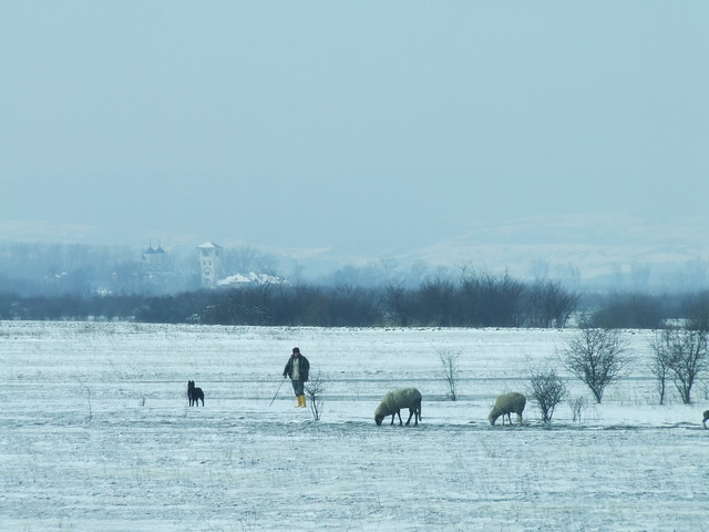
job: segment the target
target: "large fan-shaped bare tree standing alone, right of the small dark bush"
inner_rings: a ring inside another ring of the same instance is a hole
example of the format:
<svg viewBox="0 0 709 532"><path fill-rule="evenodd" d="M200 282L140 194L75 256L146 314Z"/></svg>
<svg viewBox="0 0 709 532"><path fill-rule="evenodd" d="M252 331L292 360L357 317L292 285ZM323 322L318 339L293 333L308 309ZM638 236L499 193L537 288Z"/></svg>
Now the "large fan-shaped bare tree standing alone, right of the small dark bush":
<svg viewBox="0 0 709 532"><path fill-rule="evenodd" d="M626 346L615 329L583 327L562 350L562 364L578 377L600 402L606 387L620 377L630 362Z"/></svg>

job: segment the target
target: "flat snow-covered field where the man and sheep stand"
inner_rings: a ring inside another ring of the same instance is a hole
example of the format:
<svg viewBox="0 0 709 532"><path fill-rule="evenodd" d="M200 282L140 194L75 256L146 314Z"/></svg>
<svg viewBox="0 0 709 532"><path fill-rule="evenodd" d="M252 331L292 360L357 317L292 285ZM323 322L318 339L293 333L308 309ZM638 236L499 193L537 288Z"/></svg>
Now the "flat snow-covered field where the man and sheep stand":
<svg viewBox="0 0 709 532"><path fill-rule="evenodd" d="M707 386L658 407L650 332L624 335L629 376L580 422L528 402L524 426L490 426L571 334L0 321L0 530L709 530ZM269 406L294 346L326 385L320 421L288 382ZM422 423L377 427L404 386Z"/></svg>

